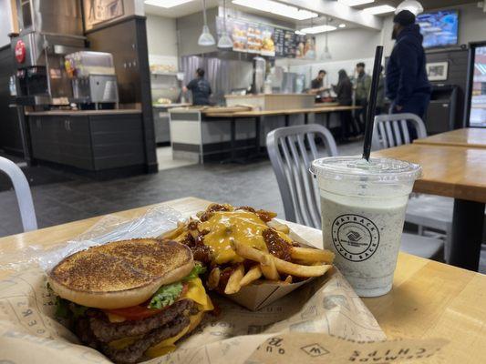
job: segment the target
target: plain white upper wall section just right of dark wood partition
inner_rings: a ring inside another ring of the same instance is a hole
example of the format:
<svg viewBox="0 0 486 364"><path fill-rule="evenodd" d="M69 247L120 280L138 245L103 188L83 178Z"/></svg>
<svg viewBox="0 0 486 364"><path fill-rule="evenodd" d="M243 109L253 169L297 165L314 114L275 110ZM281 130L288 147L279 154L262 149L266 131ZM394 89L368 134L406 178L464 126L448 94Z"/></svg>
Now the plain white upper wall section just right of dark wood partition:
<svg viewBox="0 0 486 364"><path fill-rule="evenodd" d="M177 67L178 46L175 19L147 14L147 42L150 65L170 64Z"/></svg>

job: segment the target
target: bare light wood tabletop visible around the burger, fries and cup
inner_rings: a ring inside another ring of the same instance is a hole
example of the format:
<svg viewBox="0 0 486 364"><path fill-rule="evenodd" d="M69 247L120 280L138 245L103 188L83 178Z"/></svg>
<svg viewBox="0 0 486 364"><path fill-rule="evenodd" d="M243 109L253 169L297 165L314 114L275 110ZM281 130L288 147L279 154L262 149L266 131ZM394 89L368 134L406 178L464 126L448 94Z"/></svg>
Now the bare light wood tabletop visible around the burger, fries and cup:
<svg viewBox="0 0 486 364"><path fill-rule="evenodd" d="M244 201L242 201L243 203ZM209 202L182 198L167 205L193 215ZM121 217L140 216L147 207L119 212ZM45 229L0 238L0 264L3 252L18 251L29 245L43 248L74 238L91 227L99 217L47 227ZM291 225L303 238L322 247L320 230ZM0 277L7 273L0 270ZM388 339L443 338L450 340L443 356L447 363L484 363L486 358L486 277L424 258L400 253L390 293L363 299Z"/></svg>

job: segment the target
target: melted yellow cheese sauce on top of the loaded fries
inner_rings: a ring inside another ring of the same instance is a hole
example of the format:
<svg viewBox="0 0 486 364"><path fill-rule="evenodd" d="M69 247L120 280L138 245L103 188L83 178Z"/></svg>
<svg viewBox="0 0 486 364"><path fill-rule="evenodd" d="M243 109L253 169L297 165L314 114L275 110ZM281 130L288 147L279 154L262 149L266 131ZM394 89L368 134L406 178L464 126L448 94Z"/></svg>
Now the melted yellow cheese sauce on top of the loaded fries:
<svg viewBox="0 0 486 364"><path fill-rule="evenodd" d="M212 249L213 260L216 264L239 263L244 260L231 247L231 238L253 248L268 251L262 234L269 227L253 212L217 211L209 220L202 222L200 227L210 231L204 236L204 245ZM279 232L278 234L292 244L292 240L284 233Z"/></svg>

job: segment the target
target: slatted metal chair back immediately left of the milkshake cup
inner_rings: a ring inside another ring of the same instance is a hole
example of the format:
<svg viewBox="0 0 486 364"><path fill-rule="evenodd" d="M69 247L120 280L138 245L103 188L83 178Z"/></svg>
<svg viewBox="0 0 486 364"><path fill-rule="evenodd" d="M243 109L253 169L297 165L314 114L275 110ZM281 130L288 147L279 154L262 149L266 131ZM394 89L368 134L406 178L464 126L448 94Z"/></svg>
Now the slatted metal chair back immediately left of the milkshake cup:
<svg viewBox="0 0 486 364"><path fill-rule="evenodd" d="M323 141L325 150L317 139ZM284 202L285 219L320 228L319 190L309 167L325 154L337 156L334 137L317 124L280 127L268 133L266 147Z"/></svg>

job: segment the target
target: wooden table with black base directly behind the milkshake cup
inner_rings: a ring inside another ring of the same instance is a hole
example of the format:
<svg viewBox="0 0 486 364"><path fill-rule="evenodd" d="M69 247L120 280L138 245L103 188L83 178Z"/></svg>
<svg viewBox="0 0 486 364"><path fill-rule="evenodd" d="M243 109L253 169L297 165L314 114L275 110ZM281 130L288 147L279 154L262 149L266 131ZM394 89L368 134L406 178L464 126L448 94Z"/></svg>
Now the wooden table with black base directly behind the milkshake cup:
<svg viewBox="0 0 486 364"><path fill-rule="evenodd" d="M418 163L423 177L414 191L454 198L450 264L478 270L486 203L486 148L408 144L373 157Z"/></svg>

